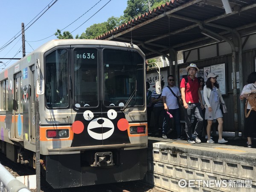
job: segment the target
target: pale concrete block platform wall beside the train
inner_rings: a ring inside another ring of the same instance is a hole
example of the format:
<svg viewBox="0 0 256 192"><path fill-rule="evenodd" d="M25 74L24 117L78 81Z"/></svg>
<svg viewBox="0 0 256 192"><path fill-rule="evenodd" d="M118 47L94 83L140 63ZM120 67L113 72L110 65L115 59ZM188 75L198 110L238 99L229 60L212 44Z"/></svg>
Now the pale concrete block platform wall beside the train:
<svg viewBox="0 0 256 192"><path fill-rule="evenodd" d="M174 192L253 192L256 191L256 157L251 155L207 151L207 148L204 150L189 146L176 147L157 142L148 148L145 180ZM186 187L180 187L184 182ZM193 187L188 187L189 184Z"/></svg>

